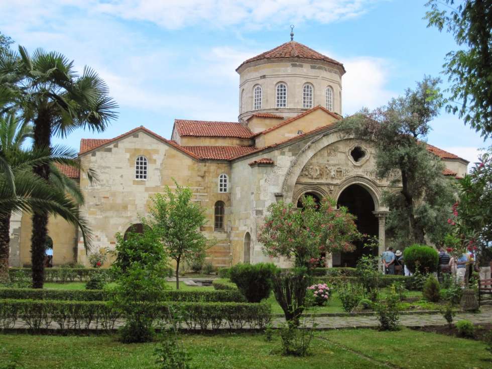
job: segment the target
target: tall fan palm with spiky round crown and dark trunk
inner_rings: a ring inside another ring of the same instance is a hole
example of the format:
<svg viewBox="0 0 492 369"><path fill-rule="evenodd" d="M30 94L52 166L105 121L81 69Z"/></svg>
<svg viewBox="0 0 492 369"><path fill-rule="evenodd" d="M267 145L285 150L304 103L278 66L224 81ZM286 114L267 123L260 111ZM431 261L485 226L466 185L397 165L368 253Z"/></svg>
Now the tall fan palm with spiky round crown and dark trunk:
<svg viewBox="0 0 492 369"><path fill-rule="evenodd" d="M23 118L34 124L34 150L50 150L53 134L66 137L78 128L103 131L117 114L108 87L92 69L85 67L78 76L73 61L56 52L37 49L31 57L19 46L19 53L0 55L0 85L14 96ZM1 101L0 101L1 102ZM48 181L49 163L34 167L34 173ZM33 214L33 287L42 288L44 248L48 211Z"/></svg>

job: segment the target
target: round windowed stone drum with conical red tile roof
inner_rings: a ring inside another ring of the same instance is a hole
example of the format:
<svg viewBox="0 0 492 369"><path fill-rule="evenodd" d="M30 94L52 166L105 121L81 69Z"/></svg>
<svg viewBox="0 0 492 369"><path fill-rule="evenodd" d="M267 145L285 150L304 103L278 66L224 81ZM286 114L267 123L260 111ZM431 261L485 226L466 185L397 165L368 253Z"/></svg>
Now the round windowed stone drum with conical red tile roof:
<svg viewBox="0 0 492 369"><path fill-rule="evenodd" d="M236 72L240 122L258 114L288 119L317 105L342 114L343 64L299 42L245 60Z"/></svg>

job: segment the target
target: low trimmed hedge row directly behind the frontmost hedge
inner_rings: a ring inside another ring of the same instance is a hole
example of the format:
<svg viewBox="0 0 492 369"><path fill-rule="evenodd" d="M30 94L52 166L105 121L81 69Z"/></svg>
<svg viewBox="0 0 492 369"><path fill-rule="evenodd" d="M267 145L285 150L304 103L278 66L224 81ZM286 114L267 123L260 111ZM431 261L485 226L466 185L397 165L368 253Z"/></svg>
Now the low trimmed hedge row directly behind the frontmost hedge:
<svg viewBox="0 0 492 369"><path fill-rule="evenodd" d="M0 288L0 299L107 301L104 290L47 290L33 288ZM244 296L236 290L224 291L164 291L163 301L183 302L244 302Z"/></svg>

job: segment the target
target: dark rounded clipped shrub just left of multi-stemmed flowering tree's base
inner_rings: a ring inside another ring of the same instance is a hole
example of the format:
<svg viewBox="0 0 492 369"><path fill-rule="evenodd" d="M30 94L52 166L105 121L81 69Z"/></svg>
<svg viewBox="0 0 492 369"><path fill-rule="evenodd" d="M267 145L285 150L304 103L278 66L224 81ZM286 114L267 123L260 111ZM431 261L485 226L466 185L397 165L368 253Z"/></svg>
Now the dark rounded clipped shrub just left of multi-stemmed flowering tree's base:
<svg viewBox="0 0 492 369"><path fill-rule="evenodd" d="M272 292L272 277L278 268L272 263L237 264L230 268L230 280L249 302L260 302Z"/></svg>

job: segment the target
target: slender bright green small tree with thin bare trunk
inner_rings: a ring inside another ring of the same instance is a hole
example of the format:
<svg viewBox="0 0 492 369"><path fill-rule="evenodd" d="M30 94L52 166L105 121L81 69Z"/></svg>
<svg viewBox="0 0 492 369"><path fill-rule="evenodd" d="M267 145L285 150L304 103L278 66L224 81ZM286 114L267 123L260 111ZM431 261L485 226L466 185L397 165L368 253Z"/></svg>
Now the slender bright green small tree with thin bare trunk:
<svg viewBox="0 0 492 369"><path fill-rule="evenodd" d="M148 225L159 235L169 256L176 261L176 289L179 289L181 262L207 248L207 239L200 233L200 227L206 223L205 215L200 205L191 200L192 197L189 188L176 183L175 192L166 186L164 195L156 194L149 209Z"/></svg>

